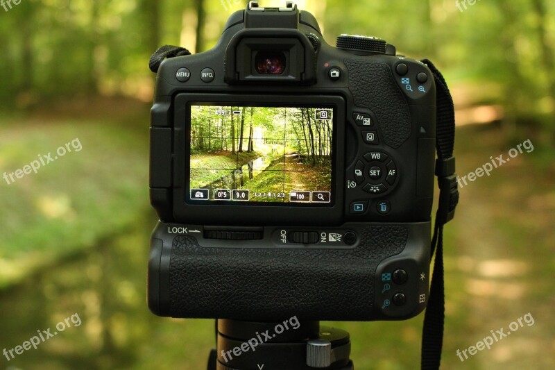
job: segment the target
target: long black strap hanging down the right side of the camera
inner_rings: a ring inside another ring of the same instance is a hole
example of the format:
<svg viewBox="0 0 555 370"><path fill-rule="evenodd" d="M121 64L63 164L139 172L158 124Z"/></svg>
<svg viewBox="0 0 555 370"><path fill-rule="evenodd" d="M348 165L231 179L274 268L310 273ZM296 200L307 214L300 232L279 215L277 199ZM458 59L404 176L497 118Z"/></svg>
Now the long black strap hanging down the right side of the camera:
<svg viewBox="0 0 555 370"><path fill-rule="evenodd" d="M432 237L430 259L436 251L434 274L429 289L428 305L422 329L422 369L439 369L443 346L443 324L445 321L445 291L443 283L443 226L454 217L459 203L459 189L456 183L455 158L455 113L449 87L441 72L425 59L422 62L434 74L436 82L437 136L436 136L436 176L439 185L439 205Z"/></svg>

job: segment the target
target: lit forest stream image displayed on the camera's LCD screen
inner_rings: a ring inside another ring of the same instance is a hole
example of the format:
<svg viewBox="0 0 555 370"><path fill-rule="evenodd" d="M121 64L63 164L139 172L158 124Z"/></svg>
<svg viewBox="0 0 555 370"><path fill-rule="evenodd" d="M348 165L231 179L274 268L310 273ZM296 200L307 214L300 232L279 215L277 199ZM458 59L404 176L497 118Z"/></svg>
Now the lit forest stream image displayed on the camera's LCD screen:
<svg viewBox="0 0 555 370"><path fill-rule="evenodd" d="M190 199L329 205L333 114L191 105Z"/></svg>

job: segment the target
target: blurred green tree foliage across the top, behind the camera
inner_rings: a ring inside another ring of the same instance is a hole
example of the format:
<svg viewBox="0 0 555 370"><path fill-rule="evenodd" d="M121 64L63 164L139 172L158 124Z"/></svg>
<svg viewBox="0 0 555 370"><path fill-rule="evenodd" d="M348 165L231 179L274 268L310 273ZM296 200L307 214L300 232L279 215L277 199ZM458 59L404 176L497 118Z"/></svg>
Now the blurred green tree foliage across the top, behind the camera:
<svg viewBox="0 0 555 370"><path fill-rule="evenodd" d="M383 37L400 53L436 60L452 86L487 86L464 103L501 104L516 121L544 121L549 128L555 3L461 3L307 0L301 6L316 14L330 44L339 33ZM0 106L97 93L149 99L153 76L146 66L157 46L212 47L231 12L243 7L236 1L26 0L9 12L0 9Z"/></svg>

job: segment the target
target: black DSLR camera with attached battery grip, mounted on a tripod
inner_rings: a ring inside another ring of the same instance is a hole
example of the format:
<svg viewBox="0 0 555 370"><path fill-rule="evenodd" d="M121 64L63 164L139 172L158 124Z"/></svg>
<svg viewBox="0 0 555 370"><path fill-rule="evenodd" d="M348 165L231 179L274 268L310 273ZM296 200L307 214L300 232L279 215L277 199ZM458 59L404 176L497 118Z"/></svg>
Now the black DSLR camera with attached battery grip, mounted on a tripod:
<svg viewBox="0 0 555 370"><path fill-rule="evenodd" d="M160 65L148 305L160 316L398 320L428 300L436 90L373 37L235 12Z"/></svg>

